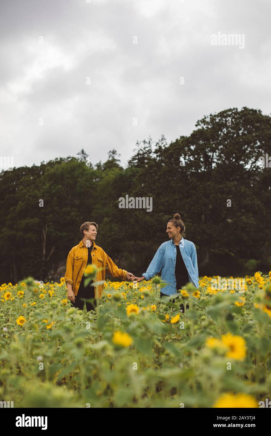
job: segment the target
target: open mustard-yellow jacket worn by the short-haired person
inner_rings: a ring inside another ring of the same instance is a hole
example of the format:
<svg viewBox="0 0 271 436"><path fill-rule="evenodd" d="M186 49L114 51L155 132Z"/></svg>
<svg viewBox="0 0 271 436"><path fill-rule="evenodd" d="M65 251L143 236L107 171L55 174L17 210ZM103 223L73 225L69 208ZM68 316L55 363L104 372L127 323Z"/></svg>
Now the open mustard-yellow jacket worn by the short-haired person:
<svg viewBox="0 0 271 436"><path fill-rule="evenodd" d="M114 264L113 260L104 252L104 250L98 245L93 243L93 250L91 252L92 265L96 265L98 268L103 268L97 273L96 282L100 282L105 279L105 274L110 274L112 277L118 277L123 280L127 280L127 271L120 269ZM65 282L70 283L74 295L77 295L78 289L84 274L84 270L87 266L88 250L82 241L73 247L67 257ZM100 298L103 292L104 285L95 286L95 298Z"/></svg>

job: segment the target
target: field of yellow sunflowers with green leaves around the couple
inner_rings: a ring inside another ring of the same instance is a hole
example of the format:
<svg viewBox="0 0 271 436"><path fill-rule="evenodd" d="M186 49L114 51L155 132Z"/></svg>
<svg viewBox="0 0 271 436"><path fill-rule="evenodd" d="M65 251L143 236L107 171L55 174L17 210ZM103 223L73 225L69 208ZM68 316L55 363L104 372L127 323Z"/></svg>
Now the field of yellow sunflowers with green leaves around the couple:
<svg viewBox="0 0 271 436"><path fill-rule="evenodd" d="M160 299L158 276L107 281L90 312L70 307L64 278L3 283L0 400L16 408L258 408L271 399L271 272L246 276L241 290L214 289L214 279L188 284L174 302Z"/></svg>

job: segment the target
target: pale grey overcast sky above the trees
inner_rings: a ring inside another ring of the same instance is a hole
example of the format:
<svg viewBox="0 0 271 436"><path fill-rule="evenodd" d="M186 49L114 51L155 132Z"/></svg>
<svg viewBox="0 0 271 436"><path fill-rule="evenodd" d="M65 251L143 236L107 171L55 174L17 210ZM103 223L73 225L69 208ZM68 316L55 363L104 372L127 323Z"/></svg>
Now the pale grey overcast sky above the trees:
<svg viewBox="0 0 271 436"><path fill-rule="evenodd" d="M95 164L115 148L126 164L137 140L170 143L204 115L270 114L270 13L271 0L1 0L0 156L84 148ZM218 32L244 48L212 45Z"/></svg>

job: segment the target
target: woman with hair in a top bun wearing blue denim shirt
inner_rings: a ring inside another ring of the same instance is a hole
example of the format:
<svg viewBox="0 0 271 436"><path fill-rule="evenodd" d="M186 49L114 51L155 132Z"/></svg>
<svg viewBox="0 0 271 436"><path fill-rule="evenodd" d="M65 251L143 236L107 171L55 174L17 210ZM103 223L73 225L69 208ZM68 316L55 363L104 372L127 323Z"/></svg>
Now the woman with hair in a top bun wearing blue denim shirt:
<svg viewBox="0 0 271 436"><path fill-rule="evenodd" d="M164 295L173 295L188 282L198 288L197 252L193 242L183 238L185 226L179 214L167 223L169 241L163 242L154 255L142 277L134 277L137 282L150 280L161 271L161 279L168 283L163 288Z"/></svg>

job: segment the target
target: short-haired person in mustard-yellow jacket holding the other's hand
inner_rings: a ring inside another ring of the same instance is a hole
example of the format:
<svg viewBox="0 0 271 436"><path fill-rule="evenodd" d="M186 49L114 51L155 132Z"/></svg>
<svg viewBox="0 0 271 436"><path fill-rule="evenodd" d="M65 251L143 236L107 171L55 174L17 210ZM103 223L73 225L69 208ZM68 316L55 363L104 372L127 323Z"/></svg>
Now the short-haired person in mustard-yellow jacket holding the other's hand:
<svg viewBox="0 0 271 436"><path fill-rule="evenodd" d="M103 284L95 286L93 282L90 282L87 287L84 286L83 275L88 264L96 265L99 269L97 283L105 279L106 273L122 280L131 280L133 276L131 272L118 268L106 252L95 244L97 229L98 225L95 222L84 222L80 227L82 240L70 250L67 257L65 282L67 283L68 300L72 306L81 310L84 308L84 300L81 298L100 298L104 287ZM94 309L91 303L86 302L86 306L87 311Z"/></svg>

